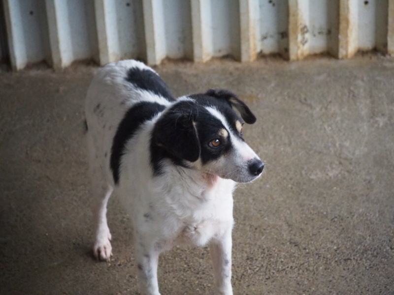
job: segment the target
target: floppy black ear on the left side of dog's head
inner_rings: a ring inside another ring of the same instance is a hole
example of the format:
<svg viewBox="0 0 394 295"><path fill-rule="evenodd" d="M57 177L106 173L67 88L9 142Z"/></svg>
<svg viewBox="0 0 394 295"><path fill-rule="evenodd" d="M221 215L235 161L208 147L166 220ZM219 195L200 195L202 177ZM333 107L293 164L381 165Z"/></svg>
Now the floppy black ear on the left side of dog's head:
<svg viewBox="0 0 394 295"><path fill-rule="evenodd" d="M152 133L153 142L170 154L190 162L200 156L194 116L179 111L169 111L156 122Z"/></svg>

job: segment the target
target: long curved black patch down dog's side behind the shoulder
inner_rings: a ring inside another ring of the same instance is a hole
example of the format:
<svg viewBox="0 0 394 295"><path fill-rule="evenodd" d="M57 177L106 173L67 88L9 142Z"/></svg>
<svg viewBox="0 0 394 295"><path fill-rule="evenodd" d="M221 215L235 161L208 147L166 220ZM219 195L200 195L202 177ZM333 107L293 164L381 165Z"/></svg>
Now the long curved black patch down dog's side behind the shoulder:
<svg viewBox="0 0 394 295"><path fill-rule="evenodd" d="M164 110L165 106L156 102L139 102L127 111L118 126L111 148L110 167L115 184L119 183L119 169L126 143L145 121Z"/></svg>

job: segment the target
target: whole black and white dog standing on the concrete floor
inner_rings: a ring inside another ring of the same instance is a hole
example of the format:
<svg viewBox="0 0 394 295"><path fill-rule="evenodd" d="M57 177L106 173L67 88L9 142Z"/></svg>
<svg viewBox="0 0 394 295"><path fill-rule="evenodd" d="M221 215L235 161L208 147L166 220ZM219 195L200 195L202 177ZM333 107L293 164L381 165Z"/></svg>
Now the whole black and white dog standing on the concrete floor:
<svg viewBox="0 0 394 295"><path fill-rule="evenodd" d="M159 295L159 254L179 243L209 243L215 292L232 294L232 192L264 168L243 139L244 122L256 121L245 103L227 90L175 99L150 67L123 60L98 71L85 111L96 258L112 255L106 206L115 189L132 219L142 294Z"/></svg>

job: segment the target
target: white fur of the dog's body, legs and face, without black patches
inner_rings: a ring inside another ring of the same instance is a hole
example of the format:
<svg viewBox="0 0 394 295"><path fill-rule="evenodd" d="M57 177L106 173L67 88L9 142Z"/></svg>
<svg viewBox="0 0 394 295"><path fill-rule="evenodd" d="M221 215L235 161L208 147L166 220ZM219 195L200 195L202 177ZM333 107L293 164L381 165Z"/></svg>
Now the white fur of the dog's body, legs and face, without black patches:
<svg viewBox="0 0 394 295"><path fill-rule="evenodd" d="M132 218L134 253L142 294L159 295L157 263L162 251L180 243L202 246L209 242L215 292L231 295L232 192L235 182L216 176L226 177L228 172L221 175L215 171L215 165L189 169L164 161L164 173L153 177L149 141L154 124L161 116L159 114L146 121L127 143L121 160L119 184L114 184L109 165L111 146L119 122L127 110L138 101L158 102L165 106L172 104L125 81L127 70L135 66L152 70L134 60L109 64L98 71L87 94L85 111L92 194L98 200L94 210L94 255L100 260L109 260L112 255L106 205L115 189ZM184 96L180 99L191 98ZM100 116L94 111L98 105ZM210 111L226 124L218 110ZM236 165L244 165L248 159L257 157L245 143L235 142L237 154L234 154L233 161L237 162ZM226 164L226 159L219 161ZM197 167L197 163L191 163L191 166ZM226 178L236 180L237 177L231 175Z"/></svg>

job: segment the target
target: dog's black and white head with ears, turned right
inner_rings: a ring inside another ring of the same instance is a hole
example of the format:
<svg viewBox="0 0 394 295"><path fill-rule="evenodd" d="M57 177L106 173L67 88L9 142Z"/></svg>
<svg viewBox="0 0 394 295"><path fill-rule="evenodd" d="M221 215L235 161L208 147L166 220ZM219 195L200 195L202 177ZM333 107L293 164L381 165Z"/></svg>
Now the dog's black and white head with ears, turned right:
<svg viewBox="0 0 394 295"><path fill-rule="evenodd" d="M234 93L208 90L183 97L166 110L155 124L152 140L183 166L249 182L264 168L243 139L244 123L255 121L248 106Z"/></svg>

